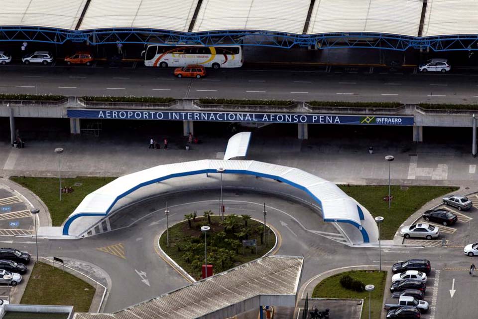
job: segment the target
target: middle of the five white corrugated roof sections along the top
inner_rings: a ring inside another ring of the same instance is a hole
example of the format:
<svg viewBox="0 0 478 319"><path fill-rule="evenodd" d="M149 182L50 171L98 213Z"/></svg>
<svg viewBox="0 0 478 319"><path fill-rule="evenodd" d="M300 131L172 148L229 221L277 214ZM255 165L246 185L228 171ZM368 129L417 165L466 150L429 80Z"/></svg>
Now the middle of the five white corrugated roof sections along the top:
<svg viewBox="0 0 478 319"><path fill-rule="evenodd" d="M193 31L265 30L302 34L310 0L203 0Z"/></svg>

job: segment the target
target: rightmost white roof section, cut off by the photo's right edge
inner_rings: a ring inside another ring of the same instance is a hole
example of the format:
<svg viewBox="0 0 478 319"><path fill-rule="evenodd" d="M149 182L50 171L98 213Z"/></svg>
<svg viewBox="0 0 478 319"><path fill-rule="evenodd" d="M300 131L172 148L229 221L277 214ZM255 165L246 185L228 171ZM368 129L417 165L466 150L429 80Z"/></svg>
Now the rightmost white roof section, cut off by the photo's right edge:
<svg viewBox="0 0 478 319"><path fill-rule="evenodd" d="M428 0L422 36L477 33L477 0Z"/></svg>

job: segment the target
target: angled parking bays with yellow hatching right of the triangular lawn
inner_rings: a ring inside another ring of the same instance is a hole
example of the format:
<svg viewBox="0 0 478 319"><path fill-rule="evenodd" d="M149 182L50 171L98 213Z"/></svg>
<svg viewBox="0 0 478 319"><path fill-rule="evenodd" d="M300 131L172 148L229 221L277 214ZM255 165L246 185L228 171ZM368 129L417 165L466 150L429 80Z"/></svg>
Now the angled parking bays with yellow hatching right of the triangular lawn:
<svg viewBox="0 0 478 319"><path fill-rule="evenodd" d="M469 199L473 202L472 208L466 211L460 211L455 207L440 205L437 209L445 209L453 214L457 215L458 221L453 225L443 226L436 222L426 221L423 217L420 217L414 224L419 222L428 223L430 225L436 226L440 229L440 236L437 239L426 240L426 239L404 239L404 244L409 245L422 245L425 247L464 247L471 242L475 242L477 238L470 237L473 231L478 227L478 218L475 216L478 215L478 195L473 194L469 196Z"/></svg>

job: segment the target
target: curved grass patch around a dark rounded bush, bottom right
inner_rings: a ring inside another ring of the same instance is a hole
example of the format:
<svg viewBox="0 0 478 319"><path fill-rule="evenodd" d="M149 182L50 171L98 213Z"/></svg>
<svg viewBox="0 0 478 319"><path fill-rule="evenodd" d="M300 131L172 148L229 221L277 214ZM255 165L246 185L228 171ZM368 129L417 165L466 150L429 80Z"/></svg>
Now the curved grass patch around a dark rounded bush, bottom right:
<svg viewBox="0 0 478 319"><path fill-rule="evenodd" d="M368 316L368 292L356 292L345 289L340 284L340 278L344 275L360 280L364 285L374 285L375 290L371 293L371 318L380 319L383 302L383 290L385 289L386 271L353 270L340 273L321 281L312 293L313 298L340 298L340 299L363 299L361 318Z"/></svg>

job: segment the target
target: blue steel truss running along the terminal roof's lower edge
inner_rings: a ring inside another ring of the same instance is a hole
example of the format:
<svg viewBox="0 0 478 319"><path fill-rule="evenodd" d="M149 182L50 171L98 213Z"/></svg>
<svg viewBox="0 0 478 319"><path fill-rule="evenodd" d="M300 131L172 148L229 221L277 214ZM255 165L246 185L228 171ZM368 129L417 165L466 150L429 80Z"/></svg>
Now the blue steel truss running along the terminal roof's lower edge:
<svg viewBox="0 0 478 319"><path fill-rule="evenodd" d="M243 37L247 42L243 42ZM224 30L211 32L174 32L155 29L101 29L63 30L43 27L0 26L1 41L35 41L62 44L66 41L109 43L164 43L164 44L240 44L291 48L312 46L331 48L376 48L405 51L409 48L430 48L433 51L478 50L478 35L455 35L437 37L409 37L377 33L289 34L268 31Z"/></svg>

